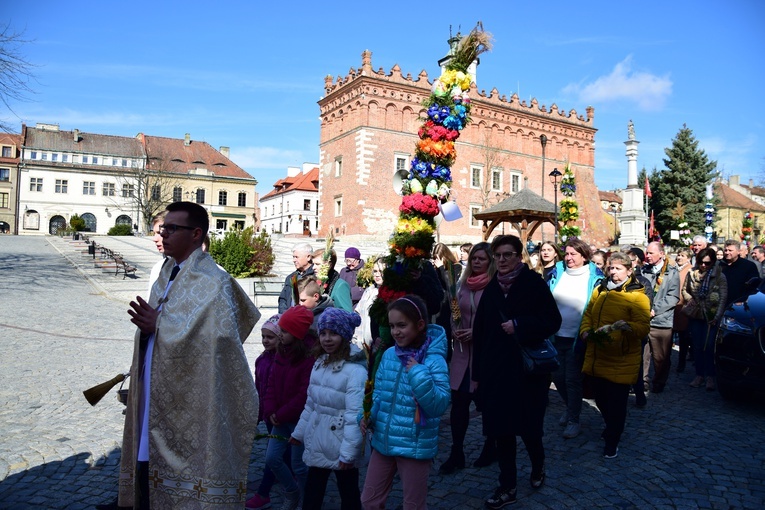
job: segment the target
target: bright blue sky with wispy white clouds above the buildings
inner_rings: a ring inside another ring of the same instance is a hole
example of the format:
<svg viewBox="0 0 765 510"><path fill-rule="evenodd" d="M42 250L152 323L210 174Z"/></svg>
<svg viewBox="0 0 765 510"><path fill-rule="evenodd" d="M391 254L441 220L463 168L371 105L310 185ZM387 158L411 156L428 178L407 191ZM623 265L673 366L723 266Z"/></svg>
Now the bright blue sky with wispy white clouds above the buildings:
<svg viewBox="0 0 765 510"><path fill-rule="evenodd" d="M471 5L473 4L473 5ZM627 182L627 123L638 168L664 168L687 125L722 176L765 181L765 2L104 2L0 0L23 34L29 100L0 108L18 126L228 146L258 192L288 166L319 162L324 77L372 67L439 74L451 33L494 36L478 89L548 107L595 108L595 181Z"/></svg>

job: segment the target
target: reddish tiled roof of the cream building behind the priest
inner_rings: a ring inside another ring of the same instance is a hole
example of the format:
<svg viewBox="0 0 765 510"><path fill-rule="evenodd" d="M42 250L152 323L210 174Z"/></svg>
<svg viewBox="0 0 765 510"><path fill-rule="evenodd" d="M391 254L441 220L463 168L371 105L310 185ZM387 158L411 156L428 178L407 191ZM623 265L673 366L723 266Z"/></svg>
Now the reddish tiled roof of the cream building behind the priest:
<svg viewBox="0 0 765 510"><path fill-rule="evenodd" d="M139 142L142 138L146 145L150 169L163 166L165 171L186 174L197 168L206 168L216 177L254 179L252 175L207 142L190 140L186 145L185 140L181 138L165 138L141 133L136 137Z"/></svg>

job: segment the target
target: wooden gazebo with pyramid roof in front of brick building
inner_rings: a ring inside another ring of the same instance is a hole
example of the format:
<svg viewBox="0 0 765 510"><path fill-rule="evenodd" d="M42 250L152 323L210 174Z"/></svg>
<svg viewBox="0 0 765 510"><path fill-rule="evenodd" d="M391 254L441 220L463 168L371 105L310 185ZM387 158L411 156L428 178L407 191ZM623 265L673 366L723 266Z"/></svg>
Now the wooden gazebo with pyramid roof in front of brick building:
<svg viewBox="0 0 765 510"><path fill-rule="evenodd" d="M488 241L495 228L507 222L518 231L521 242L526 246L526 241L543 223L555 225L555 205L524 188L500 203L476 213L474 218L483 222L481 228L484 241Z"/></svg>

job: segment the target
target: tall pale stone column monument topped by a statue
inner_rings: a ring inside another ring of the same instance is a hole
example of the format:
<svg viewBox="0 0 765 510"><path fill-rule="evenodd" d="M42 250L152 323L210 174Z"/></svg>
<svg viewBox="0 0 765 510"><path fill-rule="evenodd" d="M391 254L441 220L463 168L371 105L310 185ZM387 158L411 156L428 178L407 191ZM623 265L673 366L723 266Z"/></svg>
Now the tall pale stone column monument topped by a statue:
<svg viewBox="0 0 765 510"><path fill-rule="evenodd" d="M632 120L627 124L627 189L622 190L622 212L617 215L619 220L619 244L644 246L646 244L645 226L648 217L645 213L643 186L637 182L637 146L640 142L635 139L635 125Z"/></svg>

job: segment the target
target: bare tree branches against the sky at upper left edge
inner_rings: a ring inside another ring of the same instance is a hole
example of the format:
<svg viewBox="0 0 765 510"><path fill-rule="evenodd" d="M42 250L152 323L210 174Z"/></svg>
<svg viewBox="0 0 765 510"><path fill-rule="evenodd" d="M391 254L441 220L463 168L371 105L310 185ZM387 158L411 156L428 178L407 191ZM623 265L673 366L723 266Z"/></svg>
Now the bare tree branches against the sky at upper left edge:
<svg viewBox="0 0 765 510"><path fill-rule="evenodd" d="M30 82L35 79L32 69L35 67L27 61L21 47L29 43L22 38L22 34L13 32L10 25L5 25L0 31L0 101L5 108L15 117L11 104L17 101L27 101L34 90ZM10 122L0 120L0 130L6 133L15 132Z"/></svg>

